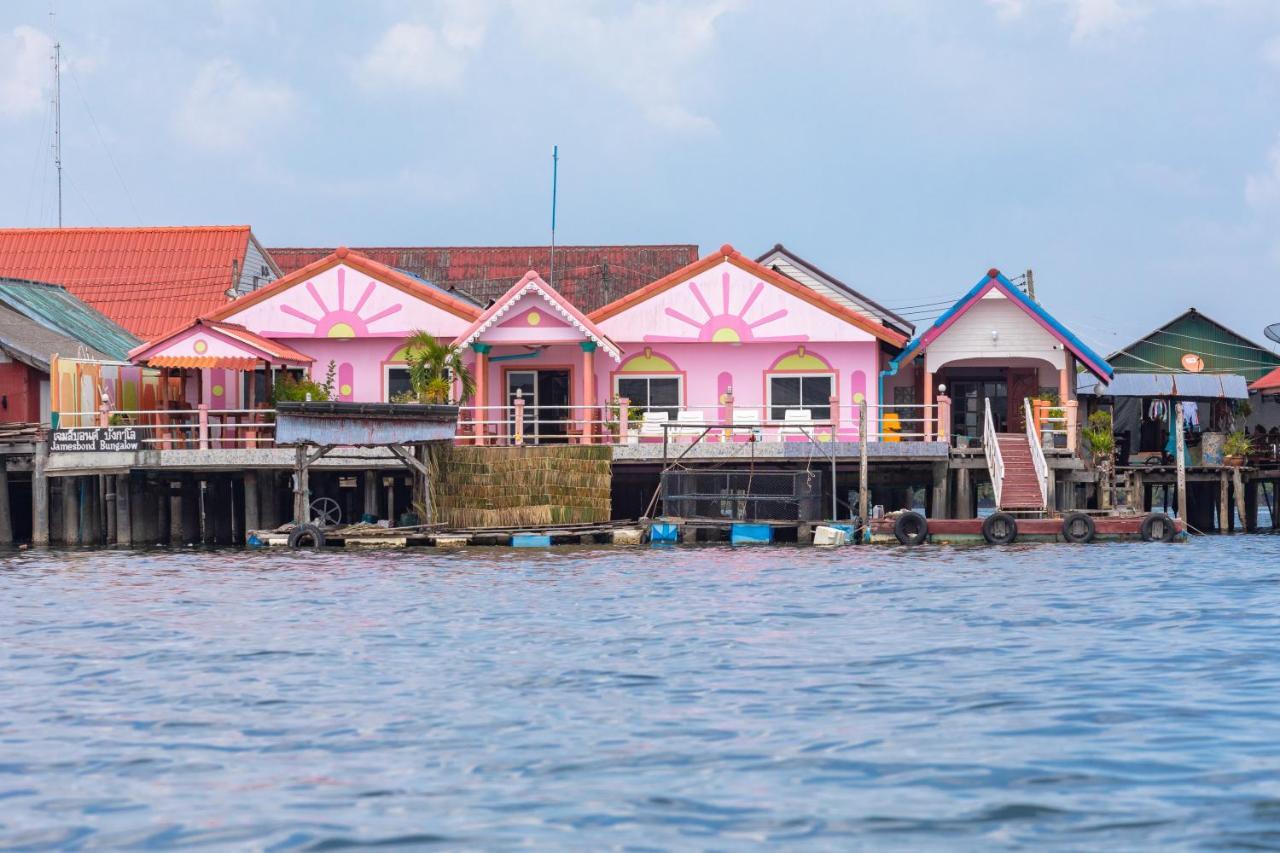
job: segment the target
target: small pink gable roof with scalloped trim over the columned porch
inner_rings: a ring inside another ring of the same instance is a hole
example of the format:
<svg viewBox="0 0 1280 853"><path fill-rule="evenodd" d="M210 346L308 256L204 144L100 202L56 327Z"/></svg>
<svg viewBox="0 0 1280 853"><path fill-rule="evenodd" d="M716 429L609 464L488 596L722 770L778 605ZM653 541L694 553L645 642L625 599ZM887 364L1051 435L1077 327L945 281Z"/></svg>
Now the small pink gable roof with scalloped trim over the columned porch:
<svg viewBox="0 0 1280 853"><path fill-rule="evenodd" d="M522 320L513 321L513 320ZM529 270L502 298L453 341L457 347L472 343L552 343L594 341L614 361L622 350L599 327L561 296L541 277Z"/></svg>

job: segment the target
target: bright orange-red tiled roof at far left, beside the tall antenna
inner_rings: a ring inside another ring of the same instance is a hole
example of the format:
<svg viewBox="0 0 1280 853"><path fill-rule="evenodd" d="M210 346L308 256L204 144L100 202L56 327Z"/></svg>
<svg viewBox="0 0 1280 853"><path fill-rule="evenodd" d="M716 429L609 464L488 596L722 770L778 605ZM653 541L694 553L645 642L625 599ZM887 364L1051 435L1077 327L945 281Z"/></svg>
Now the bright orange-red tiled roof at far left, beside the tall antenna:
<svg viewBox="0 0 1280 853"><path fill-rule="evenodd" d="M150 341L228 301L248 225L4 228L0 275L61 284Z"/></svg>

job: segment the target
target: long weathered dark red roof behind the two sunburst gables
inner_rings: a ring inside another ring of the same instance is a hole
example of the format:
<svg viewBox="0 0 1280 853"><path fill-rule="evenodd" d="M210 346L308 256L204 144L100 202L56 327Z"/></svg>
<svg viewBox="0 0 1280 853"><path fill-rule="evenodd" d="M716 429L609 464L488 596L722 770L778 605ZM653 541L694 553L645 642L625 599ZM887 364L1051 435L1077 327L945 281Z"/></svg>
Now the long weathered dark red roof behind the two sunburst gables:
<svg viewBox="0 0 1280 853"><path fill-rule="evenodd" d="M269 248L284 273L306 266L333 248ZM448 246L356 248L436 287L462 291L481 305L497 300L529 270L550 280L548 246ZM557 246L556 289L584 314L698 260L695 245Z"/></svg>

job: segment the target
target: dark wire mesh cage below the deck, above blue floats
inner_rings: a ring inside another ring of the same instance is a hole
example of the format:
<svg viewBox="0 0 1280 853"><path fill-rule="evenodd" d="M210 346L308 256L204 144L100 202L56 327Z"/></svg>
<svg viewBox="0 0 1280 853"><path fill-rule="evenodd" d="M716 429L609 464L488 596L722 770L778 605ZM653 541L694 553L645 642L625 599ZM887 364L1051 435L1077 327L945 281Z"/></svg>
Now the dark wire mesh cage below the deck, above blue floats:
<svg viewBox="0 0 1280 853"><path fill-rule="evenodd" d="M717 521L815 521L822 473L675 470L662 474L663 514Z"/></svg>

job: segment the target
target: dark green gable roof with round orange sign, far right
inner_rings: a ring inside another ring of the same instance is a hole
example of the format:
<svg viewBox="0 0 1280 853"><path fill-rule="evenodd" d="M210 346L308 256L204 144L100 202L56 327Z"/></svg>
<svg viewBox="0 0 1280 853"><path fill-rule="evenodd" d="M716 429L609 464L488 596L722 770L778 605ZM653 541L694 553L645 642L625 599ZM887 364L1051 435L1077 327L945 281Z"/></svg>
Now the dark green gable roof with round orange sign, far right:
<svg viewBox="0 0 1280 853"><path fill-rule="evenodd" d="M1280 366L1280 355L1190 309L1124 350L1107 356L1116 373L1185 373L1184 355L1198 355L1203 373L1234 373L1252 382Z"/></svg>

